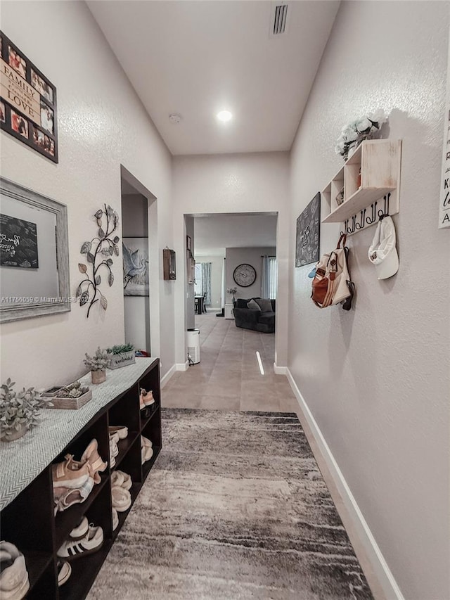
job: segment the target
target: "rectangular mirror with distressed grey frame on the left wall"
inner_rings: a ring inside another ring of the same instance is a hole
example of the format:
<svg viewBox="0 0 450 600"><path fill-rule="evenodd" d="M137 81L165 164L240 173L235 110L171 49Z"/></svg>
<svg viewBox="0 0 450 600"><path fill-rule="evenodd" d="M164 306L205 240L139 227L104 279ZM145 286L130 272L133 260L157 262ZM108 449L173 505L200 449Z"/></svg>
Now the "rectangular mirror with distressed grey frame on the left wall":
<svg viewBox="0 0 450 600"><path fill-rule="evenodd" d="M70 310L67 207L0 177L0 322Z"/></svg>

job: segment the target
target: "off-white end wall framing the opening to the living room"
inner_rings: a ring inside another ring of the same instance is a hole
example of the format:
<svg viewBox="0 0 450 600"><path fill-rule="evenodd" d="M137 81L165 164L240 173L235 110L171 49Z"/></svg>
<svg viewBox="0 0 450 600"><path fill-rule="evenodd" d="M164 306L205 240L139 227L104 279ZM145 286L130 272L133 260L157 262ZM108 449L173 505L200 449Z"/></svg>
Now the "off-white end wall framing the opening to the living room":
<svg viewBox="0 0 450 600"><path fill-rule="evenodd" d="M174 236L185 213L278 211L276 362L286 364L288 340L289 155L285 152L180 156L173 160ZM176 255L183 249L178 245ZM178 267L177 267L178 268ZM184 362L184 281L176 278L176 362Z"/></svg>

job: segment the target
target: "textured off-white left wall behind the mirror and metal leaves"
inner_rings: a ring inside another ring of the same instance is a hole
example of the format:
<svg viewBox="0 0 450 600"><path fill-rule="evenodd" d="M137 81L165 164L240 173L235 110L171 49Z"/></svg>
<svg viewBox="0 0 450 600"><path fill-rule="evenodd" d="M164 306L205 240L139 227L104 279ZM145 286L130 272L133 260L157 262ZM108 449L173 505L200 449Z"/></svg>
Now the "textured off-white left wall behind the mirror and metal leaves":
<svg viewBox="0 0 450 600"><path fill-rule="evenodd" d="M103 203L120 212L121 164L157 196L158 246L172 245L171 157L84 2L2 2L1 29L56 85L60 154L54 165L1 132L1 174L68 205L75 295L79 249L96 232L93 213ZM158 257L161 280L160 250ZM4 324L2 377L19 386L68 381L86 370L84 352L122 342L122 257L113 273L105 314L94 307L86 319L86 309L73 305L59 316ZM167 324L156 350L164 371L174 363L173 288L154 293L160 322Z"/></svg>

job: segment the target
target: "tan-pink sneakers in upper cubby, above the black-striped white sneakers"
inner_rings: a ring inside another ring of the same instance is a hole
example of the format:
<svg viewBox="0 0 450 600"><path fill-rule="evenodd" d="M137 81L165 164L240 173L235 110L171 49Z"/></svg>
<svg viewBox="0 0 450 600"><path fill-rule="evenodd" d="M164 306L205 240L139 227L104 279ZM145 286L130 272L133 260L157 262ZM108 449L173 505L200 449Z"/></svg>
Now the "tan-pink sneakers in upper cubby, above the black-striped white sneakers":
<svg viewBox="0 0 450 600"><path fill-rule="evenodd" d="M53 497L57 511L65 511L72 504L84 502L92 491L94 483L101 482L99 471L105 471L108 463L98 454L97 440L91 440L76 461L73 454L66 454L65 461L52 465Z"/></svg>

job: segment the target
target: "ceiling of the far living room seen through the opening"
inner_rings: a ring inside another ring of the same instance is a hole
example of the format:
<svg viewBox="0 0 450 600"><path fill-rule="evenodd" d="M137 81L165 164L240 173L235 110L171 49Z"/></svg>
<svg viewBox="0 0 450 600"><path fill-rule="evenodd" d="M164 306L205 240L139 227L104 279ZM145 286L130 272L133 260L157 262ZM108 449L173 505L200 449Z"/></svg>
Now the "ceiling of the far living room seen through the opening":
<svg viewBox="0 0 450 600"><path fill-rule="evenodd" d="M276 247L276 215L194 216L195 256L224 256L225 248Z"/></svg>

